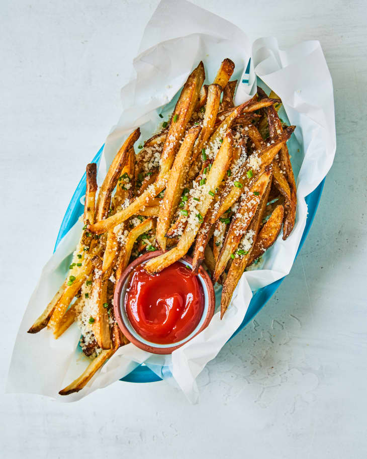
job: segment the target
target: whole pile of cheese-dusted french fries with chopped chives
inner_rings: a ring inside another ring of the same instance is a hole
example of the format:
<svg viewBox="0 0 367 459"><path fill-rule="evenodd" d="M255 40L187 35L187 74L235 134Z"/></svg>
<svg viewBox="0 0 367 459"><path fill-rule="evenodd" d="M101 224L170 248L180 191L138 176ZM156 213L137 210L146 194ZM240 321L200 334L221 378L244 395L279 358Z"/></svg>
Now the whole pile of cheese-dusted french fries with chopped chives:
<svg viewBox="0 0 367 459"><path fill-rule="evenodd" d="M98 195L97 165L86 166L83 230L67 277L29 329L57 339L71 324L91 361L59 393L82 389L128 343L113 309L114 289L129 262L145 251L157 273L189 254L223 285L221 318L243 271L295 224L296 183L287 140L295 126L278 116L278 96L261 88L234 106L234 63L225 59L212 84L202 62L188 77L168 121L140 143L136 129L115 156ZM161 118L162 115L160 115ZM97 196L97 197L96 197Z"/></svg>

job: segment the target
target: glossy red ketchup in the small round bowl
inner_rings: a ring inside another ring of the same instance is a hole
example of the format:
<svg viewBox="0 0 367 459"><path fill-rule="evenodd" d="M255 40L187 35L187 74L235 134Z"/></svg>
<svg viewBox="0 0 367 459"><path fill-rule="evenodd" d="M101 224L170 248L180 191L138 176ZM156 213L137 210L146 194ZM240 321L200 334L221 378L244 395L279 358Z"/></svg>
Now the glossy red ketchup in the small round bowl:
<svg viewBox="0 0 367 459"><path fill-rule="evenodd" d="M200 322L203 287L191 269L179 261L158 274L148 274L139 265L130 274L125 309L133 328L147 341L176 343Z"/></svg>

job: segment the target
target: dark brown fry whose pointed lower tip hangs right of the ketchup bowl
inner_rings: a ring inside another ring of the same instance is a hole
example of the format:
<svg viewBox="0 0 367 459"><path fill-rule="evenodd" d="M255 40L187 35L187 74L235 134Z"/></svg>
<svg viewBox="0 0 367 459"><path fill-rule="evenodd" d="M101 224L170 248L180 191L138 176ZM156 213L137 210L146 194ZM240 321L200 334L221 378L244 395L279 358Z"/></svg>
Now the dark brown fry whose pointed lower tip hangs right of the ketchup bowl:
<svg viewBox="0 0 367 459"><path fill-rule="evenodd" d="M223 283L222 298L221 298L221 319L223 318L224 313L227 311L229 303L231 301L234 289L236 288L238 281L241 279L242 273L246 268L249 257L251 256L252 247L256 241L256 236L259 232L261 225L262 215L264 213L267 197L270 191L270 182L268 183L267 189L262 196L260 205L257 207L256 214L254 215L247 234L252 234L251 238L247 239L247 244L250 245L250 248L247 250L247 253L243 255L238 255L232 261L232 264L228 270L228 274ZM252 239L252 242L251 242Z"/></svg>

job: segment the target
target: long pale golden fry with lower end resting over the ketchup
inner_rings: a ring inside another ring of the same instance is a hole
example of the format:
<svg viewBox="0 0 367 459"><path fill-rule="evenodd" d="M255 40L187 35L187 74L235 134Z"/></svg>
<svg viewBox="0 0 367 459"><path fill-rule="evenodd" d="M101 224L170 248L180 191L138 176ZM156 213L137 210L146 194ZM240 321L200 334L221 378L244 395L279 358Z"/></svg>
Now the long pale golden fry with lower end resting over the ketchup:
<svg viewBox="0 0 367 459"><path fill-rule="evenodd" d="M214 159L211 169L205 183L201 185L200 201L190 212L189 222L182 234L176 247L168 250L162 255L152 258L145 264L145 270L148 273L159 272L170 264L180 259L187 253L203 221L203 216L207 213L210 203L213 200L214 191L220 186L220 183L228 169L228 165L233 154L233 137L228 130L223 137L223 143L217 156ZM191 221L192 220L192 221ZM204 250L204 248L203 248Z"/></svg>

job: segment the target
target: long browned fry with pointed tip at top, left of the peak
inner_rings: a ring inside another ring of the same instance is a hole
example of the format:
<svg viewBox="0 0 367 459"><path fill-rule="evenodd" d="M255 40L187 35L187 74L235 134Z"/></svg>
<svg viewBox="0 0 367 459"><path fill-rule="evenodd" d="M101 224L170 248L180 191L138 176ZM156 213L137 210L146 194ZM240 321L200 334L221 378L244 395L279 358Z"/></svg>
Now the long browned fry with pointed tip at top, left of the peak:
<svg viewBox="0 0 367 459"><path fill-rule="evenodd" d="M174 157L180 146L179 141L184 136L186 126L194 112L204 79L204 64L200 62L189 75L173 110L167 137L163 145L158 181L166 178L168 171L172 167Z"/></svg>

